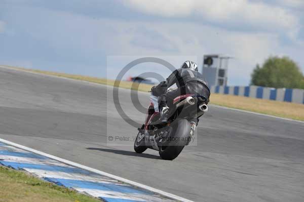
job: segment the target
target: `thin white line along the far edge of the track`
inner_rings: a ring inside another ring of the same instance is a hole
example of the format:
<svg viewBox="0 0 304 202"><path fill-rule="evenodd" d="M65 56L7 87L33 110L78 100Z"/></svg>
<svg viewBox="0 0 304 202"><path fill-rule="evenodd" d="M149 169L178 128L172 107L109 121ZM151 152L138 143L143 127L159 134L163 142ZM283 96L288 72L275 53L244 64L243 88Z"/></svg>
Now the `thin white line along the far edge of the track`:
<svg viewBox="0 0 304 202"><path fill-rule="evenodd" d="M105 84L97 84L97 83L93 83L93 82L88 82L86 80L78 80L78 79L67 78L67 77L63 77L63 76L49 75L49 74L44 74L44 73L39 73L39 72L31 72L31 71L27 71L27 70L23 70L23 69L15 69L15 68L9 67L9 66L0 65L0 68L22 71L22 72L32 73L32 74L39 74L39 75L42 75L42 76L48 76L48 77L53 77L53 78L61 78L61 79L71 80L71 81L74 81L74 82L82 82L82 83L85 83L85 84L103 86L103 87L106 87L106 88L118 88L118 87L113 87L113 86L109 86L109 85L105 85ZM130 89L124 89L124 88L120 88L120 90L131 91ZM142 91L138 91L138 93L150 94L148 92L142 92ZM251 114L261 115L261 116L268 116L268 117L272 117L272 118L278 118L278 119L281 119L281 120L287 120L289 122L297 122L297 123L304 124L304 122L301 121L301 120L294 120L294 119L291 119L291 118L283 118L283 117L279 117L279 116L268 115L268 114L253 112L253 111L246 111L246 110L236 109L236 108L231 108L231 107L224 107L224 106L215 105L215 104L209 104L209 105L212 105L212 106L215 106L215 107L218 107L218 108L240 111L240 112L244 112L244 113L251 113Z"/></svg>

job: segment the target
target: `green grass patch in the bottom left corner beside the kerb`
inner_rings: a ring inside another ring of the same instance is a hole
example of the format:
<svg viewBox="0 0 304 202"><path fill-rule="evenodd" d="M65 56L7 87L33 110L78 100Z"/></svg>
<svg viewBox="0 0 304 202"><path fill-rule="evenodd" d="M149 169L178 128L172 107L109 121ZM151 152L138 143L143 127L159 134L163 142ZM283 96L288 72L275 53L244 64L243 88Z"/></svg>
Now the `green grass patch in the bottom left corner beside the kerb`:
<svg viewBox="0 0 304 202"><path fill-rule="evenodd" d="M100 200L0 166L0 202L97 202Z"/></svg>

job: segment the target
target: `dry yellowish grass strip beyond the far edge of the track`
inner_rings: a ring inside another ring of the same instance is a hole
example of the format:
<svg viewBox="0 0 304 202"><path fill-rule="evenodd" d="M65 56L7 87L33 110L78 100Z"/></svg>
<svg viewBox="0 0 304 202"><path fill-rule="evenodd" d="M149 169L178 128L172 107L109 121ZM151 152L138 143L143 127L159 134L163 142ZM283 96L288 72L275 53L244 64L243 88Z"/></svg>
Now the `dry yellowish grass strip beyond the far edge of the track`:
<svg viewBox="0 0 304 202"><path fill-rule="evenodd" d="M8 66L11 67L11 66ZM125 89L134 89L138 91L148 92L151 89L151 85L137 84L133 82L121 81L120 84L115 83L115 80L98 78L91 76L58 73L52 71L43 71L36 69L26 69L19 67L11 67L29 72L43 73L48 75L55 75L61 77L67 77L77 80L86 80L97 84L104 84L109 86L116 86ZM248 98L242 96L211 94L210 103L225 107L243 109L247 111L253 111L263 114L270 114L284 118L291 118L295 120L304 120L304 104L296 104L289 102L279 102L273 100L262 100L256 98Z"/></svg>

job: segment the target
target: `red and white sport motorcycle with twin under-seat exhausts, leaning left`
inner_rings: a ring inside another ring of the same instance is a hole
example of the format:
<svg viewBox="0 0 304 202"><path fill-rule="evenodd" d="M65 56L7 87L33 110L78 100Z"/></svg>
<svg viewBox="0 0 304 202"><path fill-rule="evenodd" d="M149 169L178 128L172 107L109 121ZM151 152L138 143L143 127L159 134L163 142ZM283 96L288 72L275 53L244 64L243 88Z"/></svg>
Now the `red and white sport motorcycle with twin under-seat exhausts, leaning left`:
<svg viewBox="0 0 304 202"><path fill-rule="evenodd" d="M173 160L184 146L191 142L196 126L190 120L208 111L206 98L192 94L180 95L173 100L173 108L174 113L166 126L154 124L160 118L158 97L150 96L145 122L138 129L139 132L135 138L135 152L142 153L150 148L158 150L161 158Z"/></svg>

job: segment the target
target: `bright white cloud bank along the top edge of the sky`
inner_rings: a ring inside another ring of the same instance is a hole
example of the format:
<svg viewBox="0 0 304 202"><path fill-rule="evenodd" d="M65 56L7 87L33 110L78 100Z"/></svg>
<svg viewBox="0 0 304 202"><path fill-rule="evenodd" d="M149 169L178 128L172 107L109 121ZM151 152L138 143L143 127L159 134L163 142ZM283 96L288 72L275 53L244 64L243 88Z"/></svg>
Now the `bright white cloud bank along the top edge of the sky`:
<svg viewBox="0 0 304 202"><path fill-rule="evenodd" d="M174 0L129 0L125 4L139 12L162 17L199 17L202 21L250 25L264 30L298 25L298 19L291 11L248 0L187 0L178 3Z"/></svg>

